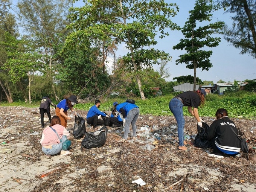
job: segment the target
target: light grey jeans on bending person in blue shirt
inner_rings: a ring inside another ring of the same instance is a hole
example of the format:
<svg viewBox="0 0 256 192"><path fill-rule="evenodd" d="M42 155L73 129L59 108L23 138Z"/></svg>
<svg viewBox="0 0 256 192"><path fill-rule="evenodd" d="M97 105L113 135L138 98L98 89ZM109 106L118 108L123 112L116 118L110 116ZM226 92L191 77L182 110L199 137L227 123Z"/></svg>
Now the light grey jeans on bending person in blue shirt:
<svg viewBox="0 0 256 192"><path fill-rule="evenodd" d="M133 137L136 137L136 121L139 117L139 113L140 113L140 110L139 108L135 107L133 109L131 109L127 116L126 116L126 122L125 122L125 133L124 133L124 136L123 136L123 139L127 139L128 138L128 133L130 132L130 124L133 128Z"/></svg>

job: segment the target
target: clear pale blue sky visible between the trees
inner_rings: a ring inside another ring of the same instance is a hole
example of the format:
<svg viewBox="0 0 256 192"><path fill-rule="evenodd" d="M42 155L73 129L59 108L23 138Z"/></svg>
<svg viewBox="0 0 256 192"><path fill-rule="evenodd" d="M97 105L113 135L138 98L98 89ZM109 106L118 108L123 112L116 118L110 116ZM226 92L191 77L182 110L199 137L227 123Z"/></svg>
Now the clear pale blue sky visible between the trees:
<svg viewBox="0 0 256 192"><path fill-rule="evenodd" d="M189 11L194 8L195 0L165 0L168 3L175 2L178 4L180 10L172 21L183 27L185 21L189 17ZM14 5L17 0L13 0ZM82 1L76 2L74 6L83 6ZM232 24L230 14L224 14L223 10L213 12L212 22L218 20L226 22L229 26ZM163 50L172 56L172 61L169 61L168 68L171 73L171 77L166 79L167 81L173 81L172 78L181 75L194 75L193 70L186 68L185 64L175 64L175 60L179 59L179 55L184 54L184 51L173 50L172 47L179 43L181 38L184 38L180 31L170 31L169 36L159 39L156 49ZM227 43L224 38L221 37L221 43L217 47L211 48L213 54L210 58L213 67L209 71L201 71L197 69L197 77L202 81L213 81L216 83L219 79L223 81L231 81L234 79L237 81L244 81L245 79L256 79L256 59L248 54L241 55L240 50ZM116 56L123 56L128 52L125 49L125 45L121 44L116 53ZM109 58L108 66L111 65L111 58ZM158 69L159 66L153 66L154 69Z"/></svg>

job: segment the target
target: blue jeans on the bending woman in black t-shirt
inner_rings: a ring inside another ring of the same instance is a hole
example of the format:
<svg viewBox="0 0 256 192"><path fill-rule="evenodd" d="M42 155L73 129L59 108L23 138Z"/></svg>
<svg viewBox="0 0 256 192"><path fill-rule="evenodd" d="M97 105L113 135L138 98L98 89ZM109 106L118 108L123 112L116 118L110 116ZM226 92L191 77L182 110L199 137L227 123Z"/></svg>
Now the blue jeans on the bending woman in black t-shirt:
<svg viewBox="0 0 256 192"><path fill-rule="evenodd" d="M174 114L174 117L178 124L178 138L179 138L179 146L184 146L184 125L185 119L183 116L183 103L177 98L173 98L169 102L169 108Z"/></svg>

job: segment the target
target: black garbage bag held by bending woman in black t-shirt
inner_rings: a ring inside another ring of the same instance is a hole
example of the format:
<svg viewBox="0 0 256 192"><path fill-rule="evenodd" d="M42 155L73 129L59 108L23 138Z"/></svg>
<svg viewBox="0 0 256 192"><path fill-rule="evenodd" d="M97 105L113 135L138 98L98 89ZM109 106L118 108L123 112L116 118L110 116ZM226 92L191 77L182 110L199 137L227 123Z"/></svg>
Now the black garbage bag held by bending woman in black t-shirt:
<svg viewBox="0 0 256 192"><path fill-rule="evenodd" d="M200 148L212 148L212 142L207 139L206 131L210 128L207 123L202 122L203 126L197 125L197 136L195 136L194 145Z"/></svg>

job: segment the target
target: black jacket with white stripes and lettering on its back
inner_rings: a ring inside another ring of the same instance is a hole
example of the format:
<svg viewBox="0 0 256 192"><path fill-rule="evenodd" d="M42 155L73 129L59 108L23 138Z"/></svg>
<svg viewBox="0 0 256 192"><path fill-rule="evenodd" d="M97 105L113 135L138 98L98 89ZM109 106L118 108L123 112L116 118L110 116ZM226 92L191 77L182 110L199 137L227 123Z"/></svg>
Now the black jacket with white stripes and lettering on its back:
<svg viewBox="0 0 256 192"><path fill-rule="evenodd" d="M228 151L239 152L241 148L240 140L231 128L238 135L236 125L229 117L215 120L207 130L207 139L211 140L216 138L215 144L218 145L218 147Z"/></svg>

